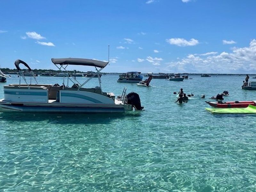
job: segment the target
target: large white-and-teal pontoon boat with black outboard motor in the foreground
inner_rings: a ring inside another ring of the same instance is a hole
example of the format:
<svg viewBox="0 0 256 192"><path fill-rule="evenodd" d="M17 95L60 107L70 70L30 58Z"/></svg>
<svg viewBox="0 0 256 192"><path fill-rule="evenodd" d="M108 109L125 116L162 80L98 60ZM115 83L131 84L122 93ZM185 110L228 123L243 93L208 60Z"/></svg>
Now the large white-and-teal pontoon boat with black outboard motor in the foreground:
<svg viewBox="0 0 256 192"><path fill-rule="evenodd" d="M96 69L95 74L98 74L108 65L108 62L78 58L52 59L52 62L65 74L67 83L72 82L71 87L68 84L65 86L65 77L63 77L61 86L59 84L38 84L28 64L22 60L16 60L14 64L20 73L20 81L23 78L26 84L4 86L4 99L0 100L0 112L124 113L132 111L133 108L143 109L137 93L131 92L126 95L126 88L124 88L122 95L115 98L114 93L102 91L100 76L98 76L99 86L84 88L83 86L93 77L80 84L66 70L68 65L92 66ZM28 68L36 84L31 84L32 78L30 78L30 84L27 83L19 67L20 63Z"/></svg>

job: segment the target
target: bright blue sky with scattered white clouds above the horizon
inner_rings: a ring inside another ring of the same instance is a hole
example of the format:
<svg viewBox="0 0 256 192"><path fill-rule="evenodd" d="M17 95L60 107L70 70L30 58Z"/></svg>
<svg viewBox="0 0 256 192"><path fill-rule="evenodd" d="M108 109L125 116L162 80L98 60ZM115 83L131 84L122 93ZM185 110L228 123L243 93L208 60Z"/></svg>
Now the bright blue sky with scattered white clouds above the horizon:
<svg viewBox="0 0 256 192"><path fill-rule="evenodd" d="M105 72L256 73L255 7L254 0L2 0L0 65L108 60L110 45Z"/></svg>

